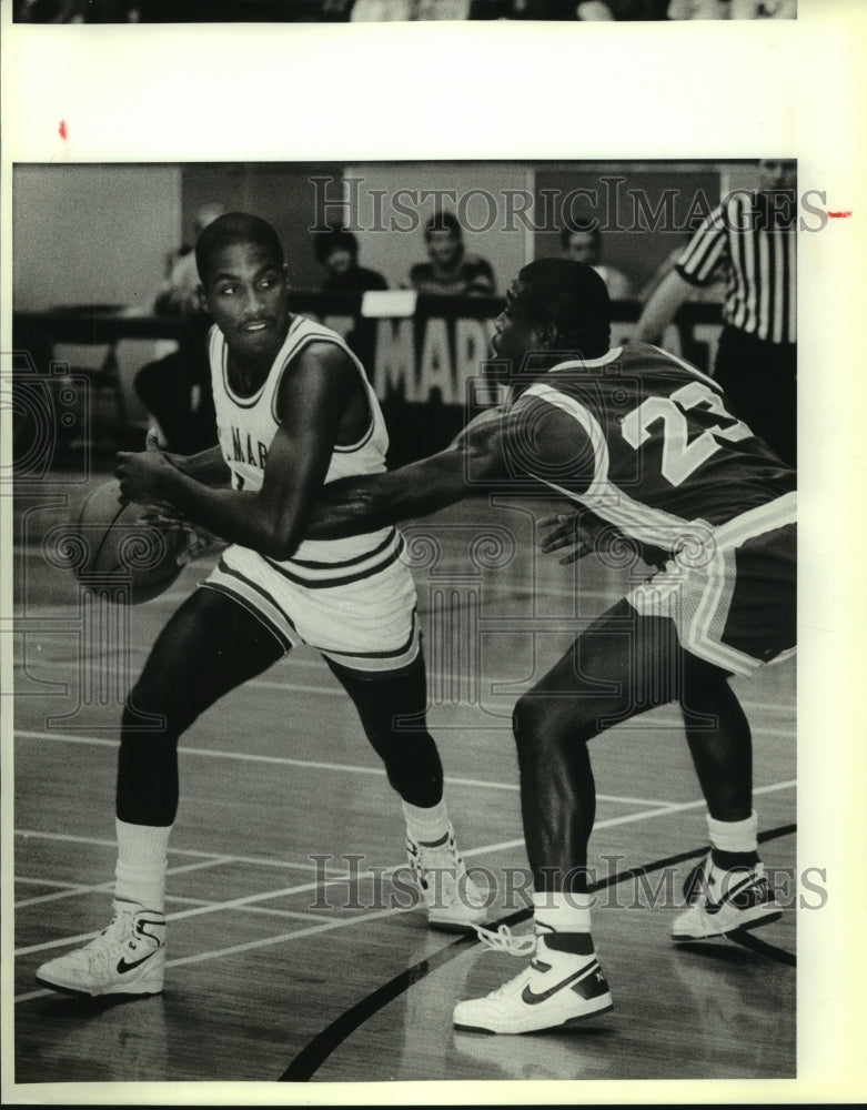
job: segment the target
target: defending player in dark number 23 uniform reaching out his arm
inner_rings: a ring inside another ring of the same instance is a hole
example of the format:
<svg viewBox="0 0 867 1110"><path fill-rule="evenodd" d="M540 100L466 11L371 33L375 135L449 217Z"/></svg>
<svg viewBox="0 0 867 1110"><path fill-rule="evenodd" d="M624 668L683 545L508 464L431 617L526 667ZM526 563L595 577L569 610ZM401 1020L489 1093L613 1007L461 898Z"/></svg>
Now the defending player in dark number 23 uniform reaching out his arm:
<svg viewBox="0 0 867 1110"><path fill-rule="evenodd" d="M530 478L569 509L546 549L625 542L656 566L515 707L533 960L486 998L458 1003L461 1028L527 1032L611 1008L591 937L586 745L654 706L679 704L708 808L710 847L674 939L779 916L757 852L750 730L728 679L795 647L795 471L694 366L646 344L609 349L608 321L589 266L525 266L493 340L510 402L438 455L329 486L311 518L310 535L345 535Z"/></svg>

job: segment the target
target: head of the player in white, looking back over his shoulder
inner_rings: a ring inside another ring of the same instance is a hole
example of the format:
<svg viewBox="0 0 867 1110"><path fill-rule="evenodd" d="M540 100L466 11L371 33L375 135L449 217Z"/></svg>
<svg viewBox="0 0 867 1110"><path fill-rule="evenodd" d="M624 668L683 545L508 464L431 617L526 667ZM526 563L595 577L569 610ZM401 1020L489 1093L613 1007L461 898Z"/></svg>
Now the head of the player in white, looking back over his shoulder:
<svg viewBox="0 0 867 1110"><path fill-rule="evenodd" d="M259 216L229 212L195 243L202 306L230 351L251 361L273 357L289 326L289 279L276 232Z"/></svg>

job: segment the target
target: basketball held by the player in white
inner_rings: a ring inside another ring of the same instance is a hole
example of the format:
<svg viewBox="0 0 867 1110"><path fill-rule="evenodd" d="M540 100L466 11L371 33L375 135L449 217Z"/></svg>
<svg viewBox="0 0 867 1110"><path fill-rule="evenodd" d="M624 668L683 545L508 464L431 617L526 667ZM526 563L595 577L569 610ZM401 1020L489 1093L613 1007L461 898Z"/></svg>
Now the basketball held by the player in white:
<svg viewBox="0 0 867 1110"><path fill-rule="evenodd" d="M109 596L133 605L171 586L182 571L178 556L186 546L186 533L144 523L143 512L143 505L122 504L120 483L113 478L89 491L63 535L79 582L93 589L129 583L129 593L112 591Z"/></svg>

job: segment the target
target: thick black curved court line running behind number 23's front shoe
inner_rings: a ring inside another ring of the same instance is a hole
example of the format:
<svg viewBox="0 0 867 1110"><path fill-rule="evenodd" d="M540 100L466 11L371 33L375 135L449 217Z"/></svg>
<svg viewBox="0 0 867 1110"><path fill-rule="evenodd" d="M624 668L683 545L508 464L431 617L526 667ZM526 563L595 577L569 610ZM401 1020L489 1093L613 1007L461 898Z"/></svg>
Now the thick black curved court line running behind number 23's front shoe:
<svg viewBox="0 0 867 1110"><path fill-rule="evenodd" d="M778 829L772 829L760 835L759 840L769 840L776 836L784 836L788 833L794 833L795 828L795 825L787 825L782 826ZM637 878L639 875L648 875L652 871L661 870L662 868L669 867L673 864L695 859L703 856L706 851L707 847L702 846L700 848L693 849L688 852L679 852L677 856L668 856L665 859L656 860L653 864L646 864L643 867L631 868L626 871L618 871L615 875L609 876L607 879L591 884L588 891L595 892L596 890L617 886L626 879ZM493 926L491 926L491 928L497 929L501 925L520 925L522 921L532 917L532 915L533 907L527 906L524 909L520 909L514 914L510 914L508 916L501 918L501 920L496 921ZM740 942L738 938L733 937L733 939L735 939L736 942ZM322 1064L335 1051L335 1049L339 1048L349 1037L351 1037L356 1029L364 1025L365 1021L379 1013L380 1010L386 1007L390 1002L394 1001L395 998L405 993L410 987L413 987L422 979L425 979L432 971L435 971L437 968L463 955L463 950L475 942L475 937L472 936L464 936L460 937L457 940L453 940L450 945L441 948L440 951L425 957L425 959L420 960L412 967L406 968L406 970L401 971L393 979L390 979L387 982L383 983L376 990L367 995L366 998L363 998L360 1002L350 1007L350 1009L344 1010L343 1013L335 1018L331 1025L309 1041L298 1056L294 1057L286 1070L280 1077L280 1082L309 1082ZM786 962L794 966L795 957L792 952L777 949L775 946L766 945L764 941L760 941L759 944L763 946L765 955L777 959L778 962Z"/></svg>

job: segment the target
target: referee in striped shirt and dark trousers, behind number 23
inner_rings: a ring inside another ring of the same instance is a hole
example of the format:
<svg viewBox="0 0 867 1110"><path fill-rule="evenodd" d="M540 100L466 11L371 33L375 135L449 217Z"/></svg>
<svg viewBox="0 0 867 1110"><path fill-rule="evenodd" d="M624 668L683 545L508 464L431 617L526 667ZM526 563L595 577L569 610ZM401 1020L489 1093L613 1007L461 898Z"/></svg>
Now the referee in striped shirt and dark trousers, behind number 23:
<svg viewBox="0 0 867 1110"><path fill-rule="evenodd" d="M714 376L733 408L786 462L797 462L796 163L758 163L759 188L708 215L645 305L635 339L656 342L692 286L726 278Z"/></svg>

